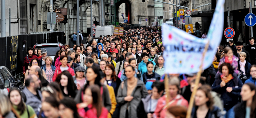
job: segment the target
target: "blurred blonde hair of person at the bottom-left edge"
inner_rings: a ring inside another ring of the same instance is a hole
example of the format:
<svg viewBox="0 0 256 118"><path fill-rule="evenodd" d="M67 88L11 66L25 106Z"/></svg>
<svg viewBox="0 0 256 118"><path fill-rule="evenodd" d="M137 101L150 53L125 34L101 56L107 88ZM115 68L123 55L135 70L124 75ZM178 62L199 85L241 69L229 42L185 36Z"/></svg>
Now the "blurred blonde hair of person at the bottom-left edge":
<svg viewBox="0 0 256 118"><path fill-rule="evenodd" d="M9 98L3 93L0 94L0 108L1 108L0 113L2 115L12 110L12 103L10 102Z"/></svg>

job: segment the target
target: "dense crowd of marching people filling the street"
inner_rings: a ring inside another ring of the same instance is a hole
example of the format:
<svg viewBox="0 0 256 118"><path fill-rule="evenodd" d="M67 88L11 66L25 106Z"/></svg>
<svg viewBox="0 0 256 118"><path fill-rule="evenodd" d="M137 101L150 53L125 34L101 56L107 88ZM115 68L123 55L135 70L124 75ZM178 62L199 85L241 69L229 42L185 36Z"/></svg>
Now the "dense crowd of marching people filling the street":
<svg viewBox="0 0 256 118"><path fill-rule="evenodd" d="M256 117L253 37L245 50L242 42L220 45L198 86L196 73L164 73L161 27L73 43L54 59L27 49L25 87L0 94L0 118L185 118L195 87L191 118Z"/></svg>

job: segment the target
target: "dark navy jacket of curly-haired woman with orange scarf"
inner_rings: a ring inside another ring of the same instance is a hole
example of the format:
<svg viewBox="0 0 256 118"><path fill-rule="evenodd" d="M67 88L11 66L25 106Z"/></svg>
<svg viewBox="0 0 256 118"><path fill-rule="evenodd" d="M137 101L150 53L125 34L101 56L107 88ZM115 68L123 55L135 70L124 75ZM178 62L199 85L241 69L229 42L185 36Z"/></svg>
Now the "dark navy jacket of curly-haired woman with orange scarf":
<svg viewBox="0 0 256 118"><path fill-rule="evenodd" d="M221 74L218 73L215 76L216 79L212 85L212 91L220 93L220 98L224 102L224 108L230 109L239 102L238 98L240 97L243 82L241 79L237 78L237 74L234 72L232 75L233 79L229 80L225 86L220 87L220 82L222 81L220 75ZM232 87L233 90L231 92L227 92L227 87Z"/></svg>

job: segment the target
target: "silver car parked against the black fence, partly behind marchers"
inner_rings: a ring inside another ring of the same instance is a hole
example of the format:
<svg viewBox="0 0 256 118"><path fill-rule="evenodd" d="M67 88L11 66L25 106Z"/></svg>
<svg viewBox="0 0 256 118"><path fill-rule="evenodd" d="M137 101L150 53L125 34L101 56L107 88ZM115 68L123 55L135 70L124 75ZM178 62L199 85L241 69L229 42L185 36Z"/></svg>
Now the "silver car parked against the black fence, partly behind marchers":
<svg viewBox="0 0 256 118"><path fill-rule="evenodd" d="M36 43L36 45L34 45L33 49L44 48L47 51L47 55L51 56L52 59L54 59L56 52L58 50L60 50L61 46L63 46L63 44L61 44L60 42L58 42L58 43L41 43L41 44Z"/></svg>

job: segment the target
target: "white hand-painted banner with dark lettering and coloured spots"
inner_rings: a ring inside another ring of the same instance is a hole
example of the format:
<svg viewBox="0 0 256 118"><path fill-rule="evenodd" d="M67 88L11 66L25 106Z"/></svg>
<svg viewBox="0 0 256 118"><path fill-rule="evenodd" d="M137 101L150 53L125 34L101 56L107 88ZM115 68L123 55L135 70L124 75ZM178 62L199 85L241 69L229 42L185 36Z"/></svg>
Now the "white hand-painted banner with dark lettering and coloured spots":
<svg viewBox="0 0 256 118"><path fill-rule="evenodd" d="M195 37L179 28L166 24L162 26L163 44L165 46L163 56L165 59L164 66L166 73L198 72L202 61L204 47L208 40L210 40L210 44L204 57L203 69L207 69L212 64L217 47L220 45L222 39L224 3L225 0L218 0L207 39Z"/></svg>

